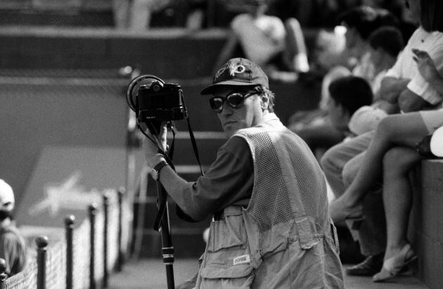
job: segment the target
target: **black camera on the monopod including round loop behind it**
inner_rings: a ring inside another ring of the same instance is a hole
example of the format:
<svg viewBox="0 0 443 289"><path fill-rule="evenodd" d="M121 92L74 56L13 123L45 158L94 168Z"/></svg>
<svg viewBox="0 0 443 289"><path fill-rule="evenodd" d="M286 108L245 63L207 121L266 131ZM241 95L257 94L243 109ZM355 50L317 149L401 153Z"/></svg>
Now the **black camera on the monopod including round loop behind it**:
<svg viewBox="0 0 443 289"><path fill-rule="evenodd" d="M139 122L183 120L187 117L181 86L165 83L154 75L132 79L128 86L127 102Z"/></svg>

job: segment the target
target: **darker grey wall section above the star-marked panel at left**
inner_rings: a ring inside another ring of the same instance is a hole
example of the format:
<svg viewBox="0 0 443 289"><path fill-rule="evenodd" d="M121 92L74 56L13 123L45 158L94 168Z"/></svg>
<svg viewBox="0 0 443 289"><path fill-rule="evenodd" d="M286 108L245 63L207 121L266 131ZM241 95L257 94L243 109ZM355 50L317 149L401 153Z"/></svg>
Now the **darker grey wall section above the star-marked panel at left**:
<svg viewBox="0 0 443 289"><path fill-rule="evenodd" d="M127 105L120 86L3 83L0 99L0 178L18 202L44 146L124 147Z"/></svg>

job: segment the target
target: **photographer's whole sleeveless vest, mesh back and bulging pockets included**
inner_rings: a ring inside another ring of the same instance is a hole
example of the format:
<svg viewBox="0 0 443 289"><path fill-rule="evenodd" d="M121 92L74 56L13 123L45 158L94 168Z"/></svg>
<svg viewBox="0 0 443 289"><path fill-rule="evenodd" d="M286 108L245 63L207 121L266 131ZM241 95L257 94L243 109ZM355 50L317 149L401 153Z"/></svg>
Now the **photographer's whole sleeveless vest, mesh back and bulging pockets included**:
<svg viewBox="0 0 443 289"><path fill-rule="evenodd" d="M197 288L341 288L326 179L309 147L274 114L233 137L250 147L252 195L212 221Z"/></svg>

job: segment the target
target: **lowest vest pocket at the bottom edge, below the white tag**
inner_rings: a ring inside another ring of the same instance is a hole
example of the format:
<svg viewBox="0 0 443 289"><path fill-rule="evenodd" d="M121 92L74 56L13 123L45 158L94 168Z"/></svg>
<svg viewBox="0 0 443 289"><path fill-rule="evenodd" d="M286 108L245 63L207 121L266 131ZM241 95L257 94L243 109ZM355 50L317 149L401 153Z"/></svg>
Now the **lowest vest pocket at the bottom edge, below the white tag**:
<svg viewBox="0 0 443 289"><path fill-rule="evenodd" d="M254 281L250 264L240 264L221 269L206 267L200 270L200 288L250 288Z"/></svg>

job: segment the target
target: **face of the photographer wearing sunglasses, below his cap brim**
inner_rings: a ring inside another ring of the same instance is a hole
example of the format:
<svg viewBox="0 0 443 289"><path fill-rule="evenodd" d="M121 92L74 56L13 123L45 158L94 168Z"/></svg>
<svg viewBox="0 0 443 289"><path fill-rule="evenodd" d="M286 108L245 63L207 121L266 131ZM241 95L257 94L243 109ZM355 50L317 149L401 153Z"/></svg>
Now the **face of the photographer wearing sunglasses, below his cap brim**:
<svg viewBox="0 0 443 289"><path fill-rule="evenodd" d="M233 92L240 92L245 94L245 91L236 88L220 88L214 91L214 96L220 96L226 98ZM221 127L223 128L227 137L232 136L238 129L245 129L248 127L254 127L262 121L264 115L262 109L262 97L259 94L253 94L252 96L245 98L243 103L238 105L237 108L232 108L231 105L223 103L223 110L217 113L219 117Z"/></svg>

